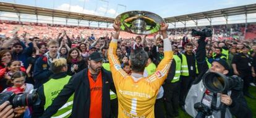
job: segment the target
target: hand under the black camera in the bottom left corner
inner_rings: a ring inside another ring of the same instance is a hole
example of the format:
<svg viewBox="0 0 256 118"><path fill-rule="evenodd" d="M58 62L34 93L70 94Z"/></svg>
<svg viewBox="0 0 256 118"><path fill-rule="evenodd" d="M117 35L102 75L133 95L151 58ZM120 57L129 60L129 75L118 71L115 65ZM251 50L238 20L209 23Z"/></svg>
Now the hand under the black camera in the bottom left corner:
<svg viewBox="0 0 256 118"><path fill-rule="evenodd" d="M1 118L12 118L19 117L25 112L24 107L12 108L9 101L6 101L0 105L0 117Z"/></svg>

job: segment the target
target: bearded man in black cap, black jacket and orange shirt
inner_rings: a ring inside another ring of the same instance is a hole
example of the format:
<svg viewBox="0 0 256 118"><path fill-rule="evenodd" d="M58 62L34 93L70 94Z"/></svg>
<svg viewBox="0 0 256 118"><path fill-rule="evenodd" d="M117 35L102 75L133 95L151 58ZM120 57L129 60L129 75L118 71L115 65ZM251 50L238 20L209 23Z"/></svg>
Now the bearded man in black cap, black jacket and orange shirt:
<svg viewBox="0 0 256 118"><path fill-rule="evenodd" d="M102 57L93 52L88 58L88 69L83 69L64 86L42 117L51 117L74 93L70 117L110 117L111 73L102 68ZM114 88L111 88L114 90Z"/></svg>

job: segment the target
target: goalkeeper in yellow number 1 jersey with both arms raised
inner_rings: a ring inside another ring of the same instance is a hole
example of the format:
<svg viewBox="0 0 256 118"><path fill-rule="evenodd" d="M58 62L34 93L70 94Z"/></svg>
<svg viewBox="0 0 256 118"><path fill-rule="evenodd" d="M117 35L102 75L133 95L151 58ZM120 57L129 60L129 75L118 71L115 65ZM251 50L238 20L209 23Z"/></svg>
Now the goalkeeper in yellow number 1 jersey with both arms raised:
<svg viewBox="0 0 256 118"><path fill-rule="evenodd" d="M164 38L164 58L156 68L155 74L148 77L143 77L148 55L142 49L135 49L130 54L129 63L132 68L130 76L121 68L116 55L120 22L115 22L113 27L116 33L109 45L108 60L117 92L118 117L154 117L156 95L167 77L173 59L171 42L166 33L168 24L162 23L160 28Z"/></svg>

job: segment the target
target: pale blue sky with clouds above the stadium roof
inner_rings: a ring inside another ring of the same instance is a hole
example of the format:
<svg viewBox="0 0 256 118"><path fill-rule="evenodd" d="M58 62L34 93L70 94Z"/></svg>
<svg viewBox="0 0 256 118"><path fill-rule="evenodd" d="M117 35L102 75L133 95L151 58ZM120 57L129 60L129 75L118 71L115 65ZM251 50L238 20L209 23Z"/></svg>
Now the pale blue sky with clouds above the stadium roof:
<svg viewBox="0 0 256 118"><path fill-rule="evenodd" d="M255 0L3 0L3 2L106 17L116 17L129 10L146 10L163 18L256 3Z"/></svg>

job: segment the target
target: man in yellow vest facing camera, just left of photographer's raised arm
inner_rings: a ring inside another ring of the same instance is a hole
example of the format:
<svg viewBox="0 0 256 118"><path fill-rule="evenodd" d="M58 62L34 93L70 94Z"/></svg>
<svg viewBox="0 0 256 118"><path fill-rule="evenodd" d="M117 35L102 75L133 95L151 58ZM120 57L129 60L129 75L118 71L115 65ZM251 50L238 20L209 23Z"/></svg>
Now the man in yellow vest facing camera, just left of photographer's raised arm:
<svg viewBox="0 0 256 118"><path fill-rule="evenodd" d="M197 74L195 54L192 52L193 45L188 43L185 46L185 53L181 54L181 94L179 97L180 105L183 108L185 96Z"/></svg>

